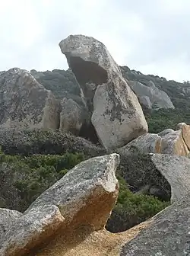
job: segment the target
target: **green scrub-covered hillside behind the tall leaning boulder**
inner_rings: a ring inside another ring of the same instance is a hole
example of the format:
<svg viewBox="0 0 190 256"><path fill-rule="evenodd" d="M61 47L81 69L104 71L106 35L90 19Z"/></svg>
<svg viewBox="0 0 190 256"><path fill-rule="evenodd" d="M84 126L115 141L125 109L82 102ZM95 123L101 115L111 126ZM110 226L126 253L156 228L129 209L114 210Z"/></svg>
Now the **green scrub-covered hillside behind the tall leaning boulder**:
<svg viewBox="0 0 190 256"><path fill-rule="evenodd" d="M190 123L190 85L188 83L166 80L166 78L157 75L144 75L129 69L127 66L120 68L122 75L128 81L137 81L144 85L152 81L157 88L165 91L173 102L175 109L154 110L142 106L150 133L159 133L167 128L175 129L177 123ZM52 72L32 70L31 74L46 89L53 91L57 98L73 98L78 104L83 104L80 97L80 87L70 69L67 71L55 69Z"/></svg>

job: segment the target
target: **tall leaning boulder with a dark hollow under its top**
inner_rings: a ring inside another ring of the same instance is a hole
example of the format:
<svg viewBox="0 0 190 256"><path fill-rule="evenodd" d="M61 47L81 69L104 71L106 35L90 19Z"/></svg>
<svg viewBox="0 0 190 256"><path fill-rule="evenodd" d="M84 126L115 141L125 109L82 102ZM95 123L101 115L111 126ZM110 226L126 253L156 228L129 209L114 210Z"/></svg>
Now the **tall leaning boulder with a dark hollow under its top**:
<svg viewBox="0 0 190 256"><path fill-rule="evenodd" d="M59 46L84 92L91 123L106 149L124 146L147 133L138 98L103 43L71 35Z"/></svg>

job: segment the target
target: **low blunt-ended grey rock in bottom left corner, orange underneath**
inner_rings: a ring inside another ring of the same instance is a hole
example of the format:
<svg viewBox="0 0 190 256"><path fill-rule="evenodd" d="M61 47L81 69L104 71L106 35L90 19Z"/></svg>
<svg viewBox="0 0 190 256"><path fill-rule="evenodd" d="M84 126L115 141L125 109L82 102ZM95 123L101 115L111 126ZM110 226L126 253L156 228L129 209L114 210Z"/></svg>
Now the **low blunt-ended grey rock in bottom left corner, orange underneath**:
<svg viewBox="0 0 190 256"><path fill-rule="evenodd" d="M0 244L2 256L24 255L46 241L64 222L57 206L33 208L17 219L5 232Z"/></svg>

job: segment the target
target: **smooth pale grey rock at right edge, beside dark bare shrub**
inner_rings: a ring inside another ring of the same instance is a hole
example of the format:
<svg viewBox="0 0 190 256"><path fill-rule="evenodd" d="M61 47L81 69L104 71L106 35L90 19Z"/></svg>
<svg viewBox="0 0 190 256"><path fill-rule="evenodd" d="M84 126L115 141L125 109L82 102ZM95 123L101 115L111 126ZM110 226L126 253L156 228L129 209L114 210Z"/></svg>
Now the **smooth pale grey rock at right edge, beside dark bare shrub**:
<svg viewBox="0 0 190 256"><path fill-rule="evenodd" d="M190 187L190 159L178 155L155 154L151 160L171 186L171 201L184 197Z"/></svg>

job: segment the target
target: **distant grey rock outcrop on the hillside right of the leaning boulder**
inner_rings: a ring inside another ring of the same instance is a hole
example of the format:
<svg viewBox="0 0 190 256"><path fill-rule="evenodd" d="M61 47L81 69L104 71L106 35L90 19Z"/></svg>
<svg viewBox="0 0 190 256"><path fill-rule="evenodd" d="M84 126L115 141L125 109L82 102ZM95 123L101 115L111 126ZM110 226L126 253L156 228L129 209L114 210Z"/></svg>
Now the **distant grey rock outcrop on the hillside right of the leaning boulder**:
<svg viewBox="0 0 190 256"><path fill-rule="evenodd" d="M130 85L138 98L141 98L141 104L144 104L144 107L154 109L175 108L166 92L158 89L152 81L148 82L147 85L137 81L129 81L128 85ZM142 100L142 97L146 98Z"/></svg>

